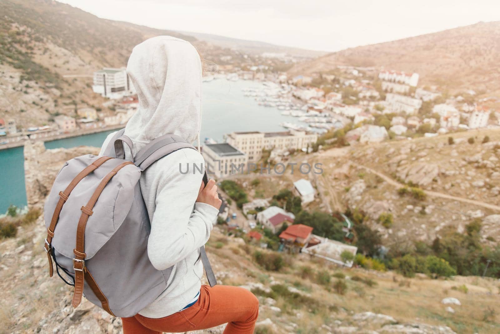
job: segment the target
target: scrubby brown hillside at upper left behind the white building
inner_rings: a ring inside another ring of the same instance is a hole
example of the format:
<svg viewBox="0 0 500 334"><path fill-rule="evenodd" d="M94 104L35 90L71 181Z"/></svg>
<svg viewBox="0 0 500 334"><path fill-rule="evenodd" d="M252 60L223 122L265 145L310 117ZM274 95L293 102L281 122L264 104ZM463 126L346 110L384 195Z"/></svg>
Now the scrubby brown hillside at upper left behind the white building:
<svg viewBox="0 0 500 334"><path fill-rule="evenodd" d="M0 1L0 118L27 127L75 108L101 107L92 74L122 67L136 44L168 34L192 42L208 61L238 53L175 31L95 15L52 0ZM103 110L105 111L105 110Z"/></svg>

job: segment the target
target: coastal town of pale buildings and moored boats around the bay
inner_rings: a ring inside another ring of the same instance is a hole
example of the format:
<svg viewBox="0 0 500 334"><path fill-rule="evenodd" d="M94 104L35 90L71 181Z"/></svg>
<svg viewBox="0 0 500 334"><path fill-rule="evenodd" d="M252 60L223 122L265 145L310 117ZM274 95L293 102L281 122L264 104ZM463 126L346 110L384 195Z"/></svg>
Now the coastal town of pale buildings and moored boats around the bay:
<svg viewBox="0 0 500 334"><path fill-rule="evenodd" d="M269 57L278 57L283 63L297 61L285 54L263 54L260 59ZM495 97L479 99L471 89L454 95L440 92L436 87L419 85L418 73L339 65L329 73L288 77L286 72L270 70L268 65L244 67L243 70L234 65L221 66L222 69L205 75L203 81L263 83L245 88L242 94L272 108L270 112L295 117L296 122L280 123L293 136L309 135L302 147L279 146L283 152L312 145L317 137L310 134L347 129L349 124L345 137L350 144L434 136L500 124L500 111L490 107L498 102ZM94 94L106 98L102 105L76 103L73 114L55 113L42 126L23 127L13 119L0 119L0 147L20 145L27 139L50 140L124 126L138 106L125 68L102 68L94 72L91 88Z"/></svg>

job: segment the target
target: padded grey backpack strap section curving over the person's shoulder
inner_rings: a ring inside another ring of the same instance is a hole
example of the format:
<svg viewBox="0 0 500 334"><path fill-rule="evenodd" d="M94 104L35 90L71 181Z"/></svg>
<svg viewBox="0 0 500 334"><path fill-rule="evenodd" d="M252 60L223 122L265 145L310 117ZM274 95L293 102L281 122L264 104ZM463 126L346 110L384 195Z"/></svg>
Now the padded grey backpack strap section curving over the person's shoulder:
<svg viewBox="0 0 500 334"><path fill-rule="evenodd" d="M141 171L149 167L154 161L181 148L196 149L176 134L165 134L151 140L142 147L134 157L134 163Z"/></svg>

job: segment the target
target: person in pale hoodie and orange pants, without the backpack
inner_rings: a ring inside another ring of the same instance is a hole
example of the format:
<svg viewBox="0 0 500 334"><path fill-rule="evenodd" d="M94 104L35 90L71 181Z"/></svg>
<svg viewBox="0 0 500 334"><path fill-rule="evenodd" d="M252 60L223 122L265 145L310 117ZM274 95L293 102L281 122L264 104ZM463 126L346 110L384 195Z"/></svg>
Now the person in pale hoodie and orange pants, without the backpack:
<svg viewBox="0 0 500 334"><path fill-rule="evenodd" d="M234 286L201 285L199 247L210 236L221 201L214 180L203 187L202 174L184 173L200 165L201 61L187 41L158 36L132 50L127 74L139 98L125 135L137 152L152 139L175 133L198 151L180 149L162 157L140 176L140 189L151 221L147 252L158 270L173 265L167 288L133 317L122 318L123 333L184 332L228 322L224 333L253 333L258 300ZM108 135L103 149L112 137ZM101 150L101 152L103 151ZM132 152L132 154L133 154ZM127 158L131 158L126 152ZM194 210L193 210L194 204Z"/></svg>

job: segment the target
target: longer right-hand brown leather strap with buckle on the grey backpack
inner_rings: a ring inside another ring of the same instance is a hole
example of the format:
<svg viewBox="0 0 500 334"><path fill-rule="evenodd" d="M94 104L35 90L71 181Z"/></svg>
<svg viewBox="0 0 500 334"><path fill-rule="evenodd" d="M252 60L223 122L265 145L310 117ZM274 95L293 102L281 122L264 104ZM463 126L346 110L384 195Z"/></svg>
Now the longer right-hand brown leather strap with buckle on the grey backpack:
<svg viewBox="0 0 500 334"><path fill-rule="evenodd" d="M97 185L97 188L95 189L94 193L88 200L87 204L85 206L81 207L81 215L80 219L78 220L78 226L76 227L76 247L74 248L73 252L75 255L75 258L73 258L73 268L74 268L74 292L73 292L73 299L71 301L71 304L73 307L76 307L80 304L81 302L81 295L83 293L83 280L85 277L85 226L87 224L88 217L90 216L89 212L92 211L93 206L95 205L95 202L97 201L97 198L99 198L100 194L102 193L102 190L104 190L104 187L106 184L111 180L111 177L113 177L118 170L126 166L127 164L133 164L132 161L125 161L123 163L120 163L116 167L113 168L109 173L107 173L106 176L100 181L99 185ZM81 270L81 271L80 271Z"/></svg>

